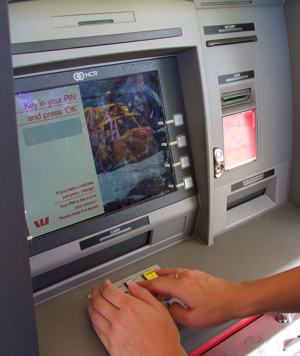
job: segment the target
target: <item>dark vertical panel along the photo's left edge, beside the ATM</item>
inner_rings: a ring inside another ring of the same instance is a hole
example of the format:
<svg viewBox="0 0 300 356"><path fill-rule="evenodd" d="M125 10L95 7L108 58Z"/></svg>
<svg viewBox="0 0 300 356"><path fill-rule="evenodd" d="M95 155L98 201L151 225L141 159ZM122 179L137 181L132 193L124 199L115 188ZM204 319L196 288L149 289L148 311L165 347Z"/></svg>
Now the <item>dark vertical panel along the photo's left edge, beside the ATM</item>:
<svg viewBox="0 0 300 356"><path fill-rule="evenodd" d="M38 355L22 204L6 0L0 1L0 354Z"/></svg>

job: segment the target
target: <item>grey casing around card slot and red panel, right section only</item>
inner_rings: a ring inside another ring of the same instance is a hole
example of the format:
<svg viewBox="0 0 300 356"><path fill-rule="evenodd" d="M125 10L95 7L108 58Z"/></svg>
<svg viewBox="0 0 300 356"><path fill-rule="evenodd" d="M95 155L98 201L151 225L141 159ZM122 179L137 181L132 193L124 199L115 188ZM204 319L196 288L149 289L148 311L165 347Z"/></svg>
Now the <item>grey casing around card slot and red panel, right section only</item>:
<svg viewBox="0 0 300 356"><path fill-rule="evenodd" d="M214 147L224 149L222 93L251 88L253 97L249 102L226 110L227 113L238 113L255 108L257 113L256 159L225 171L220 178L209 174L209 224L201 218L201 207L197 233L199 236L205 235L207 243L211 244L214 237L223 231L286 201L293 119L291 73L282 3L264 2L264 5L270 6L261 7L254 5L262 2L253 1L253 6L242 6L239 1L221 1L213 9L209 5L217 2L206 2L207 6L203 6L203 3L196 1L209 172L213 170ZM232 7L234 3L236 7ZM253 25L253 30L239 31L241 24ZM208 26L220 26L221 31L207 33L205 28ZM232 44L228 44L228 40ZM216 41L212 43L217 45L209 47L209 41ZM253 71L254 76L228 83L220 81L224 76L247 71ZM268 173L270 170L274 170L272 176Z"/></svg>

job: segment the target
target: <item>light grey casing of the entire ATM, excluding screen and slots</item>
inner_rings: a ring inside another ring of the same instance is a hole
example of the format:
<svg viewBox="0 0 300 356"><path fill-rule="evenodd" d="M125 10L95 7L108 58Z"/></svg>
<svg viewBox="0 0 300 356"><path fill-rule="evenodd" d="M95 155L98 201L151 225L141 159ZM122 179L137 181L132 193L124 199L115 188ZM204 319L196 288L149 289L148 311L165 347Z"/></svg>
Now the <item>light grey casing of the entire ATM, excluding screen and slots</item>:
<svg viewBox="0 0 300 356"><path fill-rule="evenodd" d="M124 235L124 239L130 239L151 230L150 246L46 288L36 293L36 300L97 278L192 234L212 244L218 234L286 200L292 110L282 3L206 3L202 6L201 1L193 4L183 0L153 1L151 5L145 0L89 1L88 11L86 3L80 1L72 1L72 6L69 1L47 0L9 5L16 75L174 55L198 187L197 195L147 214L147 228ZM204 26L243 23L253 23L255 29L221 35L204 33ZM207 41L228 42L234 37L238 40L233 44L206 45ZM227 87L218 81L220 76L245 71L254 71L254 77ZM257 110L257 158L216 179L213 148L223 148L221 94L249 86L253 101L236 110L250 106ZM239 185L240 188L234 188ZM260 191L263 194L256 197ZM255 198L250 199L253 194ZM228 209L232 204L238 206ZM71 244L74 245L66 244L62 249L32 257L33 274L63 268L67 261L76 262L80 258L74 254L74 249L78 252L78 242Z"/></svg>

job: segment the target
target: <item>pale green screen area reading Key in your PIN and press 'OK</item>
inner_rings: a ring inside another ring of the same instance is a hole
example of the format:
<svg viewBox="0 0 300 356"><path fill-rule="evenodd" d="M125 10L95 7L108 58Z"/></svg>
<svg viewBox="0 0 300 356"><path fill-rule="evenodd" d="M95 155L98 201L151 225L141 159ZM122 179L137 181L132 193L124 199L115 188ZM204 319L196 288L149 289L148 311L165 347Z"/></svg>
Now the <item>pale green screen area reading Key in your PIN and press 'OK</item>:
<svg viewBox="0 0 300 356"><path fill-rule="evenodd" d="M39 236L104 212L78 86L16 95L24 204Z"/></svg>

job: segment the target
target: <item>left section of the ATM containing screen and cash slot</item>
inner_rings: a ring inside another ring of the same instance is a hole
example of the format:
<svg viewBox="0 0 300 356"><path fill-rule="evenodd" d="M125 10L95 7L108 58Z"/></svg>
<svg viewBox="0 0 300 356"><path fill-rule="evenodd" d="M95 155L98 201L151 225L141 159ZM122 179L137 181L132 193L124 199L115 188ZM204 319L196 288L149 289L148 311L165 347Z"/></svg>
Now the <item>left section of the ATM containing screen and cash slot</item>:
<svg viewBox="0 0 300 356"><path fill-rule="evenodd" d="M200 123L188 121L180 79L187 61L198 69L192 3L175 2L180 26L167 23L170 2L53 4L10 5L37 301L190 236L198 199L188 129L205 136L199 104ZM21 28L30 35L21 39Z"/></svg>

